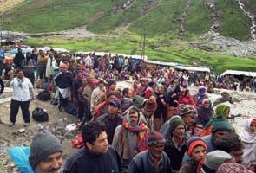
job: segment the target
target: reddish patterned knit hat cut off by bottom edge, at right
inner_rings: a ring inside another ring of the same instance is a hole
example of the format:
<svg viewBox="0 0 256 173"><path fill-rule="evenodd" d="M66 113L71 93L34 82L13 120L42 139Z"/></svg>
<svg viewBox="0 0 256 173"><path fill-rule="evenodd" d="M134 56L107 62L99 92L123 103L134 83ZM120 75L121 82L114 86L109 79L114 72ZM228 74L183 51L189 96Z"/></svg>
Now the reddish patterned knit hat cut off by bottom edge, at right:
<svg viewBox="0 0 256 173"><path fill-rule="evenodd" d="M239 163L223 163L216 173L253 173L253 171L247 170L245 166Z"/></svg>

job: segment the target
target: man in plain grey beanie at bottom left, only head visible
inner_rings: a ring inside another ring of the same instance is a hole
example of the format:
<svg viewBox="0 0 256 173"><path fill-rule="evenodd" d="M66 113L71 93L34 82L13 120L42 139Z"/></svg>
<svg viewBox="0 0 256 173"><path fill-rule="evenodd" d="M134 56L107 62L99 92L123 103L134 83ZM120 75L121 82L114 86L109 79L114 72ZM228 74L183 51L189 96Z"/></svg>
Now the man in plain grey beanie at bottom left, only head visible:
<svg viewBox="0 0 256 173"><path fill-rule="evenodd" d="M62 145L49 131L38 131L30 145L30 166L36 173L59 172L62 160Z"/></svg>

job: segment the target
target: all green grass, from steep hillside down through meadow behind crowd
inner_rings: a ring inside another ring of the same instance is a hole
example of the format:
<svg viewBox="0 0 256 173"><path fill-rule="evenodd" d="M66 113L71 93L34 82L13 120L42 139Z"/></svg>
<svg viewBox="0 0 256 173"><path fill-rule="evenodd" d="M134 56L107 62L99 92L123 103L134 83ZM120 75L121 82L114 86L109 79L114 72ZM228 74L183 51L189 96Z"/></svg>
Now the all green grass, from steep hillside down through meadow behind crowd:
<svg viewBox="0 0 256 173"><path fill-rule="evenodd" d="M197 63L212 66L213 71L226 69L256 71L255 57L233 57L194 48L186 41L177 42L181 14L187 0L134 0L123 9L125 0L24 0L0 15L1 29L42 33L75 29L87 25L99 35L93 39L62 36L31 38L26 44L50 46L76 51L103 51L117 54L141 54L142 35L147 35L146 54L155 61ZM246 1L256 14L256 0ZM246 40L250 22L235 0L218 0L220 35ZM185 39L197 40L212 25L206 4L194 0L187 10ZM203 42L203 41L202 41ZM254 59L253 59L254 58Z"/></svg>

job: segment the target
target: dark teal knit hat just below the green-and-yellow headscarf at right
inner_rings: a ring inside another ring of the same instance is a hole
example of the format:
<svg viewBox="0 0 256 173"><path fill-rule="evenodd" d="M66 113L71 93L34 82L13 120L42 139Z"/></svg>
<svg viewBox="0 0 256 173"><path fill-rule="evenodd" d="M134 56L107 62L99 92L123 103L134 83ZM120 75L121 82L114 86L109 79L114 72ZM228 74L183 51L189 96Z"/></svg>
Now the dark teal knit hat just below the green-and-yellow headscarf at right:
<svg viewBox="0 0 256 173"><path fill-rule="evenodd" d="M233 131L233 126L226 119L214 119L212 133L216 131Z"/></svg>

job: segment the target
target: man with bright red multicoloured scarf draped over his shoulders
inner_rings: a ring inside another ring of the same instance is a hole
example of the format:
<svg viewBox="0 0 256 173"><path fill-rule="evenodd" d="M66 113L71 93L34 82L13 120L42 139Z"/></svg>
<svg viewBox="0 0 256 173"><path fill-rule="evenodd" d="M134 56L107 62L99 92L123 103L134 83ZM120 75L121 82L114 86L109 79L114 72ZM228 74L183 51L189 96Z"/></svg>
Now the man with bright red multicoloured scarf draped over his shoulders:
<svg viewBox="0 0 256 173"><path fill-rule="evenodd" d="M148 127L140 121L140 110L131 108L115 129L112 145L126 166L139 152L148 149Z"/></svg>

